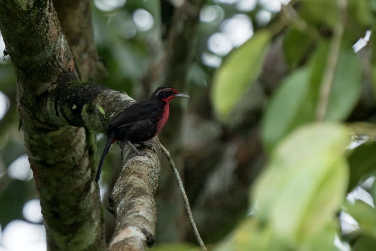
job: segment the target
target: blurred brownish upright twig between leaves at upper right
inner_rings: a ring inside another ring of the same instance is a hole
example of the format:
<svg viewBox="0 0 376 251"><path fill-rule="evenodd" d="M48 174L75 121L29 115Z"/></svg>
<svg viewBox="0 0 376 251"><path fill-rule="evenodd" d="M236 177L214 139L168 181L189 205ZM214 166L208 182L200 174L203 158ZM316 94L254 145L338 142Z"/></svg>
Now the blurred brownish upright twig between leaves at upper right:
<svg viewBox="0 0 376 251"><path fill-rule="evenodd" d="M346 0L337 0L340 17L334 26L333 38L327 58L326 69L320 85L320 96L316 110L316 120L323 121L325 119L329 96L332 89L335 69L337 67L338 58L340 57L341 40L346 22Z"/></svg>

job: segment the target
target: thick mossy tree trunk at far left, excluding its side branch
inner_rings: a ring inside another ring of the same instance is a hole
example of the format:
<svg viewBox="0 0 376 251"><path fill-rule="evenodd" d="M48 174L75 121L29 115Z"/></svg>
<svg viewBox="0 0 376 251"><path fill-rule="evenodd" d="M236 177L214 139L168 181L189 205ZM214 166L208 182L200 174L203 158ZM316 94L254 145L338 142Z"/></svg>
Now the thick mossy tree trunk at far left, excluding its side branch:
<svg viewBox="0 0 376 251"><path fill-rule="evenodd" d="M39 191L47 246L103 250L105 231L91 131L49 120L47 98L62 72L78 80L52 2L0 1L0 29L17 77L18 111ZM99 224L98 224L99 223Z"/></svg>

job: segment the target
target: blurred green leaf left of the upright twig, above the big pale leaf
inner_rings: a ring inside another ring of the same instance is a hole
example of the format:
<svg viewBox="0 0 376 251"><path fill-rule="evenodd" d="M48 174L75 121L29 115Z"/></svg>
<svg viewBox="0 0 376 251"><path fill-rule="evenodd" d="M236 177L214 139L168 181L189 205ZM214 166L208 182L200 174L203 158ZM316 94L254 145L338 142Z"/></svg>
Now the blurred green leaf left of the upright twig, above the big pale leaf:
<svg viewBox="0 0 376 251"><path fill-rule="evenodd" d="M262 141L267 150L296 126L314 119L309 103L309 69L294 71L272 97L262 120Z"/></svg>

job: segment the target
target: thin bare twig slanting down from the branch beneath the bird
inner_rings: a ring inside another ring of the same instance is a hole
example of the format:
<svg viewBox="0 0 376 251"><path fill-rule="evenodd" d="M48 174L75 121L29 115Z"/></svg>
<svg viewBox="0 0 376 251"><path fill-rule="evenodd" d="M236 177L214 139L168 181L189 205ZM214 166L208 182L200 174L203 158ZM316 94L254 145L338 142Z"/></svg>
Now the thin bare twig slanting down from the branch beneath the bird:
<svg viewBox="0 0 376 251"><path fill-rule="evenodd" d="M193 232L196 236L197 242L200 244L202 250L206 251L208 249L206 249L205 244L202 241L201 236L199 234L199 231L197 230L196 224L194 223L194 219L193 219L193 216L192 216L192 211L191 211L191 207L189 205L188 197L187 197L185 190L184 190L184 187L183 187L183 181L180 178L179 172L177 172L175 163L174 163L173 159L171 158L170 153L167 151L167 149L161 143L159 143L159 145L161 145L162 152L166 155L168 162L170 162L171 169L174 172L174 175L175 175L175 178L176 178L176 181L177 181L177 186L179 186L180 193L182 193L185 210L188 213L188 218L189 218L189 221L190 221L191 226L193 228Z"/></svg>

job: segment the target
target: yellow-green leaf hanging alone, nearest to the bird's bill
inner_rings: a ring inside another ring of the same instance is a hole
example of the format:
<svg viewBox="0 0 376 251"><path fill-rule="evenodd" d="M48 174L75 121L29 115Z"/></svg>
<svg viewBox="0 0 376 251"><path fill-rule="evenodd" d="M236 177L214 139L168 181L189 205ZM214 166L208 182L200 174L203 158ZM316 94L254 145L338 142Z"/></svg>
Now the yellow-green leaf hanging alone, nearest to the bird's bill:
<svg viewBox="0 0 376 251"><path fill-rule="evenodd" d="M218 68L213 78L211 99L221 119L228 118L246 88L258 77L270 39L267 30L256 32Z"/></svg>

